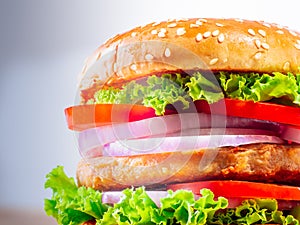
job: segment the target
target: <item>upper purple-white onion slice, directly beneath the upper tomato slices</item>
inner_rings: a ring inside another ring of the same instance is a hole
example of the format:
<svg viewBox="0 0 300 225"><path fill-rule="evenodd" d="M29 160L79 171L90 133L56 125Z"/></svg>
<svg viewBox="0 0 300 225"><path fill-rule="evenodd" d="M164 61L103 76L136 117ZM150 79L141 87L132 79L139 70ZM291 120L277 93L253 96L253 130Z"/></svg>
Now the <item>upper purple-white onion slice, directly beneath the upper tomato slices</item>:
<svg viewBox="0 0 300 225"><path fill-rule="evenodd" d="M272 122L205 113L183 113L91 128L79 133L78 143L83 156L88 156L88 152L95 148L100 151L97 155L101 155L102 147L115 141L164 137L176 132L176 135L182 136L190 129L199 131L199 135L205 128L213 128L210 134L215 134L214 128L221 128L225 133L228 127L268 129L275 132L279 130L279 125Z"/></svg>

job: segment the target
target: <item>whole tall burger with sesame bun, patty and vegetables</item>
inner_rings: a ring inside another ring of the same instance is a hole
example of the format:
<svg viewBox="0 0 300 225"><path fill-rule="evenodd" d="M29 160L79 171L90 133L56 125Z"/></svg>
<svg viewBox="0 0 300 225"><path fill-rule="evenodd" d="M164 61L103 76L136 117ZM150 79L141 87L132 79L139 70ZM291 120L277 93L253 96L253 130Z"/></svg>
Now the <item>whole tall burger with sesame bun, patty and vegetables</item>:
<svg viewBox="0 0 300 225"><path fill-rule="evenodd" d="M300 33L151 23L101 45L78 89L77 182L45 183L59 224L299 224Z"/></svg>

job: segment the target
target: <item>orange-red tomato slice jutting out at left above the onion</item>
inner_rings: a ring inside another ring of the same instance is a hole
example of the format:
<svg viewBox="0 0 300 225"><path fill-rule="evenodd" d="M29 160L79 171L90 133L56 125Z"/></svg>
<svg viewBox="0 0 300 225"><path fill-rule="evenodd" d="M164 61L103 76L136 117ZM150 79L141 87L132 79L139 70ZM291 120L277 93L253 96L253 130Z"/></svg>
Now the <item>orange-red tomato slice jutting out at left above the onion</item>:
<svg viewBox="0 0 300 225"><path fill-rule="evenodd" d="M166 115L175 111L166 110ZM155 117L155 110L142 105L91 104L65 109L68 127L81 131L111 123L123 123Z"/></svg>

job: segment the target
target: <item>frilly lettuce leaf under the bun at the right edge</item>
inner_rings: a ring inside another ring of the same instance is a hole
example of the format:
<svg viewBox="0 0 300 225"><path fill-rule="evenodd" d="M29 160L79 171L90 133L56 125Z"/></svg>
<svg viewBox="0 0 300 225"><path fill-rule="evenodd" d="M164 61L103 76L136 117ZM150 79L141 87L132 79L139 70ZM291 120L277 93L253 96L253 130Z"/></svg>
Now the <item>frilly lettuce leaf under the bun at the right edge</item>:
<svg viewBox="0 0 300 225"><path fill-rule="evenodd" d="M299 104L299 75L291 73L284 75L279 72L269 74L229 74L220 73L220 84L225 96L240 100L255 102L269 101L284 98L287 101Z"/></svg>

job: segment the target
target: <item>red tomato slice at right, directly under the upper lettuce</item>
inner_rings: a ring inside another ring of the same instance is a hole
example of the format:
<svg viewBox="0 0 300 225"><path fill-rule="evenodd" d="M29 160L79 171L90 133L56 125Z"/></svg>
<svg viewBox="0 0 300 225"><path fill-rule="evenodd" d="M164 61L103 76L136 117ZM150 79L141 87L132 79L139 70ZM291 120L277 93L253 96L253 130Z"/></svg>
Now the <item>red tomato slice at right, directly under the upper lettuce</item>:
<svg viewBox="0 0 300 225"><path fill-rule="evenodd" d="M236 99L224 99L224 102L221 100L213 104L208 104L206 101L195 101L195 106L199 112L226 114L227 116L268 120L300 126L300 107ZM226 108L224 109L225 106Z"/></svg>

